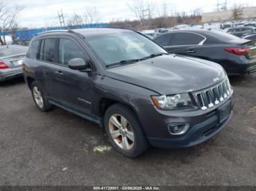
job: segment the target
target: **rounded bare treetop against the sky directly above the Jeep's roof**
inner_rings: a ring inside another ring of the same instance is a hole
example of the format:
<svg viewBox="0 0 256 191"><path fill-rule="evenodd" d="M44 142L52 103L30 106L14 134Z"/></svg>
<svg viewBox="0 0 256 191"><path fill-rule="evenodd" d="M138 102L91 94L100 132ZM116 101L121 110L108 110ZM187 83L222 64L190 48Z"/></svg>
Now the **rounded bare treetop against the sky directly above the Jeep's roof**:
<svg viewBox="0 0 256 191"><path fill-rule="evenodd" d="M86 7L83 17L84 23L91 26L99 23L101 20L96 7Z"/></svg>

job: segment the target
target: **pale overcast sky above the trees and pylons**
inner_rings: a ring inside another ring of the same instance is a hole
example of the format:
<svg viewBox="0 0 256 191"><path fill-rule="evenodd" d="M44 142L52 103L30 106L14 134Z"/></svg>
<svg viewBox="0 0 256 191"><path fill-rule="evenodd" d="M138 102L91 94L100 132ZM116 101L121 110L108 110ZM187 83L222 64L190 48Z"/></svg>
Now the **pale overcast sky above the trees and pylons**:
<svg viewBox="0 0 256 191"><path fill-rule="evenodd" d="M4 1L4 0L0 0ZM166 4L170 12L187 12L189 14L197 7L203 12L211 12L217 8L217 0L144 0L154 5L154 15L157 17L163 5ZM225 2L225 0L219 0ZM227 7L233 4L246 4L256 6L256 0L227 0ZM87 8L96 7L102 23L113 20L134 20L135 14L130 7L134 6L134 0L9 0L7 3L23 6L18 23L20 26L29 28L59 26L58 11L62 9L64 20L67 23L73 14L83 15ZM129 6L128 6L129 5Z"/></svg>

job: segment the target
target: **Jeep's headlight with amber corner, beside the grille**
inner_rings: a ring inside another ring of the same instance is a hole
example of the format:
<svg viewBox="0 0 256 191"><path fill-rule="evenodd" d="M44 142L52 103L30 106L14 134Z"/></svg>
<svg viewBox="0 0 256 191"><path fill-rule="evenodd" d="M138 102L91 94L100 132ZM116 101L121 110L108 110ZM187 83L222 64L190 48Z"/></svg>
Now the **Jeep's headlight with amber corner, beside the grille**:
<svg viewBox="0 0 256 191"><path fill-rule="evenodd" d="M154 105L157 106L158 109L171 110L188 109L193 107L188 93L151 96L151 98Z"/></svg>

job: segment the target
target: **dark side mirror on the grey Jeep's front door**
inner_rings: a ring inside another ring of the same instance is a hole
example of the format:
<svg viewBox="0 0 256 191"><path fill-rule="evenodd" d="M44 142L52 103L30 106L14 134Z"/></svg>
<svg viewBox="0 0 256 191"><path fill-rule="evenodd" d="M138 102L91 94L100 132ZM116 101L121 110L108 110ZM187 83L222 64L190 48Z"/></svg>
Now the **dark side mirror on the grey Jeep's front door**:
<svg viewBox="0 0 256 191"><path fill-rule="evenodd" d="M91 65L89 60L86 61L83 58L73 58L67 63L69 69L80 70L80 71L91 71Z"/></svg>

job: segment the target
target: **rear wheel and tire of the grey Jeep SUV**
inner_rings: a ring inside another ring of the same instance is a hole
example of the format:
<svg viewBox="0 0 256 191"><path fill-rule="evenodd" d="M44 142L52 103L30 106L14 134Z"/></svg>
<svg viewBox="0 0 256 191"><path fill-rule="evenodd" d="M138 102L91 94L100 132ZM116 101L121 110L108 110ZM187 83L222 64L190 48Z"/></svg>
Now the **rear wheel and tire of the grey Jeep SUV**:
<svg viewBox="0 0 256 191"><path fill-rule="evenodd" d="M37 108L41 112L48 112L50 109L52 109L52 106L48 103L47 98L45 98L45 94L42 92L42 88L38 82L32 82L30 88L34 104L36 104Z"/></svg>

